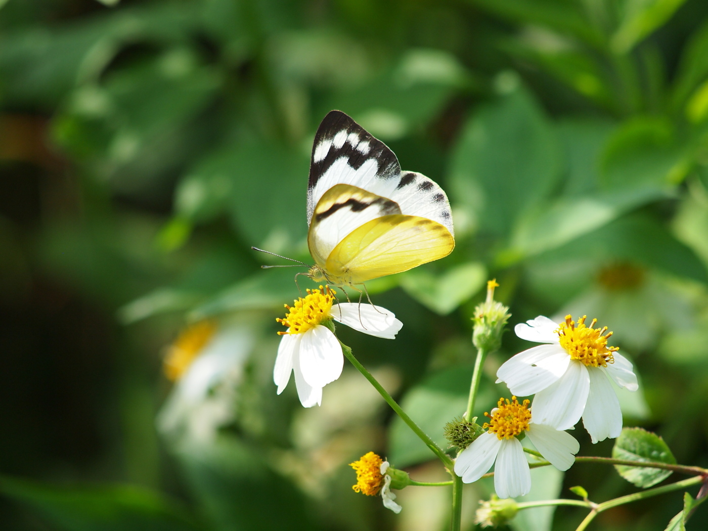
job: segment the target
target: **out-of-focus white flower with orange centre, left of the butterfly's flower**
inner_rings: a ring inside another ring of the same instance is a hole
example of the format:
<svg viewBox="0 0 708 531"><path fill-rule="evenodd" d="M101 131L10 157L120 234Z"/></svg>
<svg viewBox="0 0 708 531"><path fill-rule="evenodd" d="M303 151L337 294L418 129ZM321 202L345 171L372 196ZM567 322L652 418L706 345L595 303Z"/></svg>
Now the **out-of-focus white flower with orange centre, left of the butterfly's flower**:
<svg viewBox="0 0 708 531"><path fill-rule="evenodd" d="M235 389L254 343L251 327L200 323L188 327L165 362L176 383L157 418L174 442L212 442L219 427L234 418Z"/></svg>

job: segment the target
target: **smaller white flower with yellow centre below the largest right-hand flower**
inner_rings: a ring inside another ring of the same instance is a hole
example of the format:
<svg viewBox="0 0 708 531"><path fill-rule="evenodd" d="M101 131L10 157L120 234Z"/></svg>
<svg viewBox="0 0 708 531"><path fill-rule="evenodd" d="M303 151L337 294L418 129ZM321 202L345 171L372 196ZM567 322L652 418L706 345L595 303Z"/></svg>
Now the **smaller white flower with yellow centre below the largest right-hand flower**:
<svg viewBox="0 0 708 531"><path fill-rule="evenodd" d="M494 489L499 498L516 498L531 490L531 471L520 435L528 435L541 455L559 470L569 469L580 450L580 444L569 433L532 422L528 400L519 404L516 396L511 401L501 398L491 414L484 416L490 419L482 426L487 431L457 456L455 474L464 483L473 483L496 461Z"/></svg>

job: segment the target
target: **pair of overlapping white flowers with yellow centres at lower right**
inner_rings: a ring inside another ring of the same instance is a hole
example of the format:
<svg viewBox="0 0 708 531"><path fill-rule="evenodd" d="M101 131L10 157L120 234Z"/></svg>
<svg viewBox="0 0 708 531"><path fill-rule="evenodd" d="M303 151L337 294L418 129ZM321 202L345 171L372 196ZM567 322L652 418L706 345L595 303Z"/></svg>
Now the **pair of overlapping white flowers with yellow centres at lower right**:
<svg viewBox="0 0 708 531"><path fill-rule="evenodd" d="M583 418L593 442L615 438L622 431L622 412L609 378L629 391L638 388L632 363L607 346L612 332L586 326L566 316L556 324L552 319L536 319L515 326L516 335L527 341L544 343L524 350L506 361L496 375L510 392L519 396L535 394L532 406L500 400L490 413L486 433L463 450L455 462L455 474L465 483L477 481L494 469L494 488L500 498L523 496L531 489L529 464L518 439L529 439L551 464L567 470L580 445L564 430L573 429ZM532 420L533 414L533 420Z"/></svg>

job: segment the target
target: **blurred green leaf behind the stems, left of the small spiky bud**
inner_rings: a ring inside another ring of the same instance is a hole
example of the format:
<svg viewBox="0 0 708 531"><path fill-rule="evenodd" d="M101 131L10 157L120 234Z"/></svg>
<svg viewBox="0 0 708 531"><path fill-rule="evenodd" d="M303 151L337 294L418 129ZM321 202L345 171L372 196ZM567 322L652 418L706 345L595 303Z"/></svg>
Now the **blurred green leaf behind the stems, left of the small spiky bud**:
<svg viewBox="0 0 708 531"><path fill-rule="evenodd" d="M461 416L467 409L469 383L472 367L452 367L428 376L421 384L406 393L401 407L430 435L440 447L447 447L443 428L452 418ZM477 395L477 411L490 411L501 394L486 379L482 379ZM435 455L406 426L400 418L394 418L389 428L389 461L395 467L429 461Z"/></svg>

